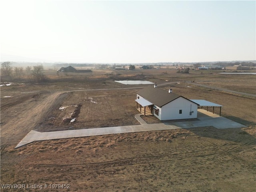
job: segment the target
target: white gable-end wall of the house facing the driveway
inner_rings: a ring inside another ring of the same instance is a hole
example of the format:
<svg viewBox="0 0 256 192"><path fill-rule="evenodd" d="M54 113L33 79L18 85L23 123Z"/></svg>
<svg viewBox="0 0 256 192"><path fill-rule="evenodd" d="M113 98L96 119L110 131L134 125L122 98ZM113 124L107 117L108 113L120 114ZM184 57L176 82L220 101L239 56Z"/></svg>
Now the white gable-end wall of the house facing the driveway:
<svg viewBox="0 0 256 192"><path fill-rule="evenodd" d="M190 115L190 106L191 111L194 111ZM197 118L197 107L198 105L194 102L191 102L183 97L179 97L172 102L162 106L161 114L159 110L158 118L160 120L174 120L174 119L190 119ZM180 114L182 110L182 114Z"/></svg>

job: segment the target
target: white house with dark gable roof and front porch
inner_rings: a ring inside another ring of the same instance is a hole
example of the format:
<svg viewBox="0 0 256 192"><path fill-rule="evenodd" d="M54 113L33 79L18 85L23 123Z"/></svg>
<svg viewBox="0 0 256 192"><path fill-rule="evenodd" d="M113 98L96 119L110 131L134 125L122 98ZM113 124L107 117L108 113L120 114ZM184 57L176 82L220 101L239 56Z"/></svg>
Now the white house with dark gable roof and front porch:
<svg viewBox="0 0 256 192"><path fill-rule="evenodd" d="M156 86L148 86L137 92L137 109L144 115L154 115L159 120L175 120L197 118L199 104ZM143 108L144 110L143 110Z"/></svg>

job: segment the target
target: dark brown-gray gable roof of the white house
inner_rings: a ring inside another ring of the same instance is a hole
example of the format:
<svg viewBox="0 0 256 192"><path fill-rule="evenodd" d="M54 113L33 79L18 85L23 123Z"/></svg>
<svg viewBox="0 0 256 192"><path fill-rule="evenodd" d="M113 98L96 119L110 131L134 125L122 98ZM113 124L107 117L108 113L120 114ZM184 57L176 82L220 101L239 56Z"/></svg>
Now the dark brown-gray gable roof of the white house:
<svg viewBox="0 0 256 192"><path fill-rule="evenodd" d="M152 86L152 85L147 86L141 90L138 90L137 94L139 94L140 96L142 96L149 102L151 102L159 107L162 107L165 104L168 104L169 102L171 102L179 97L182 97L178 94L169 93L168 91L162 90L160 88L154 88L154 86ZM193 101L191 101L191 102L193 102Z"/></svg>

